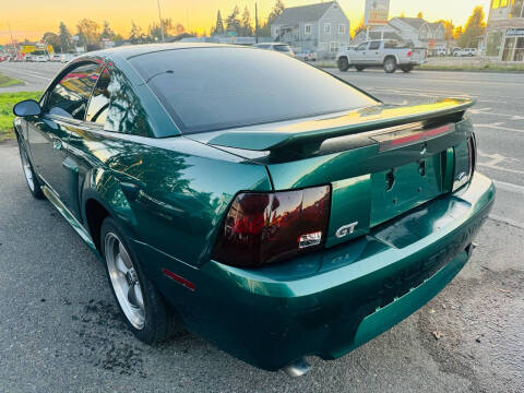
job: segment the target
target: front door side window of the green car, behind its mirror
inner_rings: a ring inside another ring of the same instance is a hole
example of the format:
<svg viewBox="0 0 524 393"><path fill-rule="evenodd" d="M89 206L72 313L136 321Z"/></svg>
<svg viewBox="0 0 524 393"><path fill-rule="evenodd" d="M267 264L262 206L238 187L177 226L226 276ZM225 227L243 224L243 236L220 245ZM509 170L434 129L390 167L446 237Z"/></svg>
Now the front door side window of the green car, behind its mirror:
<svg viewBox="0 0 524 393"><path fill-rule="evenodd" d="M50 115L84 120L99 73L100 66L96 63L71 69L48 93L45 110Z"/></svg>

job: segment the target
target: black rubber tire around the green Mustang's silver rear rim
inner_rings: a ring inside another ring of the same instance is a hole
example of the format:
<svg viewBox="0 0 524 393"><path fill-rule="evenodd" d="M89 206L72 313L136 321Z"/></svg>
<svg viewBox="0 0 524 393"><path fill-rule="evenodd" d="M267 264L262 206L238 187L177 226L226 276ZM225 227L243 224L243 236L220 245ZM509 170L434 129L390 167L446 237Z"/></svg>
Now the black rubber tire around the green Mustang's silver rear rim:
<svg viewBox="0 0 524 393"><path fill-rule="evenodd" d="M120 242L123 245L132 261L135 278L139 281L144 303L144 322L141 329L136 329L130 322L115 291L115 286L109 275L109 267L106 259L106 236L108 234L116 235L118 237L118 240L120 240ZM169 338L175 333L183 331L181 324L175 315L174 310L171 309L171 306L167 303L160 293L154 287L153 283L144 274L136 252L134 251L132 243L128 240L128 236L126 236L126 230L110 216L104 219L104 223L102 224L100 251L106 262L105 265L107 278L114 298L118 305L118 308L120 309L122 319L136 338L146 344L155 344Z"/></svg>

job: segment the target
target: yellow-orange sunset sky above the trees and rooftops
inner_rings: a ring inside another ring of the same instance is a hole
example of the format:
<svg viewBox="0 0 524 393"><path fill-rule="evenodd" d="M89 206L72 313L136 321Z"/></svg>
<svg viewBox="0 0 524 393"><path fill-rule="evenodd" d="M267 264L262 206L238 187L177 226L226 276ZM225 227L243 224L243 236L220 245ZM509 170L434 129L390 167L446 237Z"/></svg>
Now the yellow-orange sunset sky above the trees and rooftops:
<svg viewBox="0 0 524 393"><path fill-rule="evenodd" d="M63 21L71 33L83 17L92 19L99 24L109 21L112 28L127 36L131 21L141 25L144 31L152 22L158 20L156 0L2 0L0 5L0 44L10 41L8 22L15 39L37 39L45 32L58 31ZM240 10L247 5L254 16L254 0L160 0L163 17L171 17L181 23L186 29L209 33L219 9L223 17L237 4ZM320 0L284 0L286 7L312 4ZM259 0L259 17L267 16L274 0ZM340 0L342 9L349 17L352 26L358 24L364 14L365 0ZM475 5L484 5L488 12L490 0L391 0L391 16L402 12L406 16L416 16L421 11L426 20L452 20L454 24L464 24Z"/></svg>

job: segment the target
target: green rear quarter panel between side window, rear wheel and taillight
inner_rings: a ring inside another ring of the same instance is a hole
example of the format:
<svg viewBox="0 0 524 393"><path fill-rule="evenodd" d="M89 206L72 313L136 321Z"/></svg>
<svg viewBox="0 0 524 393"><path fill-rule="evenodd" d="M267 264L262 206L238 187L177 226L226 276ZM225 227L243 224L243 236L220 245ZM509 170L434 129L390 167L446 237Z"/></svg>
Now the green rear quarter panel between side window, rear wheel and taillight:
<svg viewBox="0 0 524 393"><path fill-rule="evenodd" d="M229 203L241 190L272 189L264 166L182 136L155 140L85 132L72 142L82 204L99 200L134 240L199 266L212 252ZM139 186L136 193L121 183Z"/></svg>

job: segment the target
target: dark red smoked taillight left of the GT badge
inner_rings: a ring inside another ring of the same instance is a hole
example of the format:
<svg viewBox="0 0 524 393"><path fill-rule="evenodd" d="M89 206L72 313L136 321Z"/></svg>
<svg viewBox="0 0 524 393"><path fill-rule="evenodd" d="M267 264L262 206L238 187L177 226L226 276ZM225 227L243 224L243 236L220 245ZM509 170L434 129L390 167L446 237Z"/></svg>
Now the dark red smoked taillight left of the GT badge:
<svg viewBox="0 0 524 393"><path fill-rule="evenodd" d="M322 248L330 207L330 186L240 193L221 227L213 259L258 266Z"/></svg>

